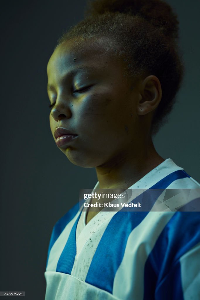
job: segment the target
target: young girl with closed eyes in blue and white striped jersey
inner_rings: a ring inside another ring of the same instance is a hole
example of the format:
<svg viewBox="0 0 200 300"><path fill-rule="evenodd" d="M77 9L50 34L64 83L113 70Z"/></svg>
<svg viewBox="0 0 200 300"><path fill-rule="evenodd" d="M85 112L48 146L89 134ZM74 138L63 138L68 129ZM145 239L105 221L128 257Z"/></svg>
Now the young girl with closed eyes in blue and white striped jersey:
<svg viewBox="0 0 200 300"><path fill-rule="evenodd" d="M178 21L159 0L97 0L48 66L50 127L97 188L197 189L155 150L181 83ZM79 211L54 226L46 300L200 299L200 214Z"/></svg>

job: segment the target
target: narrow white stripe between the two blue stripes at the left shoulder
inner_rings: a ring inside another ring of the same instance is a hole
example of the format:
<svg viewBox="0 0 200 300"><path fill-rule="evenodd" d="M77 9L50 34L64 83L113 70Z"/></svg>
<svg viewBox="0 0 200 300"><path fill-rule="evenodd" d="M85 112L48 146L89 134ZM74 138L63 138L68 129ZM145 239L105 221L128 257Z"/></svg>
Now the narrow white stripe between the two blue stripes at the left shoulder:
<svg viewBox="0 0 200 300"><path fill-rule="evenodd" d="M53 244L49 253L49 260L46 271L56 271L58 260L70 235L73 224L75 223L80 211L77 212L75 217L65 226L65 229L61 232L55 243Z"/></svg>

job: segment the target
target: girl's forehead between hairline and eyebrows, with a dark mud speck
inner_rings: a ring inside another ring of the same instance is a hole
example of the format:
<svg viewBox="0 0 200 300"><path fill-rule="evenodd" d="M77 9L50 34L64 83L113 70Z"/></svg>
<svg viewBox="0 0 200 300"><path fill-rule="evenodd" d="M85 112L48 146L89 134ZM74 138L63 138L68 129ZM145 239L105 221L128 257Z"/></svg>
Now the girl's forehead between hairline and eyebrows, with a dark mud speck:
<svg viewBox="0 0 200 300"><path fill-rule="evenodd" d="M112 51L106 51L102 44L66 41L59 45L53 52L47 65L48 78L64 76L66 73L76 71L95 70L124 70L122 59L118 58Z"/></svg>

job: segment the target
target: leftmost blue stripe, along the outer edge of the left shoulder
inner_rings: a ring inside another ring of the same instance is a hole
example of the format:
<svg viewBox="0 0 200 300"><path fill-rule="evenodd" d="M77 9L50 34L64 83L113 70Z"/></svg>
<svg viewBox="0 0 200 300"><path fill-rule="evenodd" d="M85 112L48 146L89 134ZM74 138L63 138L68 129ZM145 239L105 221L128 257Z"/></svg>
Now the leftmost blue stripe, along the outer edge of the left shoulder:
<svg viewBox="0 0 200 300"><path fill-rule="evenodd" d="M79 210L79 202L76 203L69 211L67 211L66 214L64 214L63 217L61 217L54 225L50 242L49 242L49 248L48 248L48 254L47 254L47 260L46 260L46 266L48 264L49 260L49 253L51 251L51 248L55 241L57 240L58 236L62 233L66 225L73 219L73 217L77 214L77 211Z"/></svg>

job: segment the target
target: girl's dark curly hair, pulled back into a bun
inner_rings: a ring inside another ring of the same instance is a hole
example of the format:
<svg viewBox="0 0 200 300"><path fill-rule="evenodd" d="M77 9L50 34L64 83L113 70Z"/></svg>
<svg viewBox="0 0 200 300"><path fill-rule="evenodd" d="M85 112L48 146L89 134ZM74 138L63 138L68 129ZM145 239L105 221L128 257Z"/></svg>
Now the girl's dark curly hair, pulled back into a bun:
<svg viewBox="0 0 200 300"><path fill-rule="evenodd" d="M161 0L90 0L85 19L70 27L57 46L69 39L80 46L104 38L105 51L114 51L126 62L124 76L157 76L162 99L152 120L154 135L167 121L184 73L178 24L177 15Z"/></svg>

